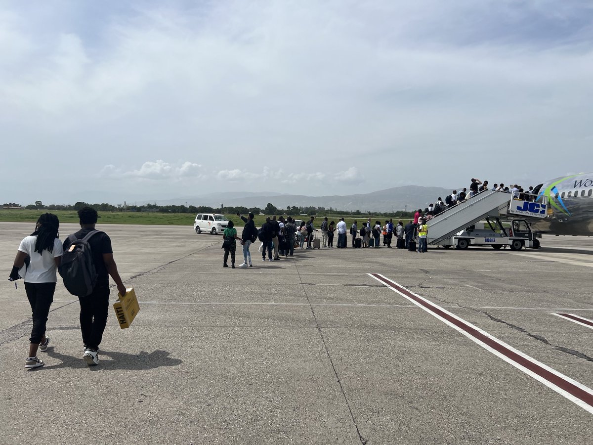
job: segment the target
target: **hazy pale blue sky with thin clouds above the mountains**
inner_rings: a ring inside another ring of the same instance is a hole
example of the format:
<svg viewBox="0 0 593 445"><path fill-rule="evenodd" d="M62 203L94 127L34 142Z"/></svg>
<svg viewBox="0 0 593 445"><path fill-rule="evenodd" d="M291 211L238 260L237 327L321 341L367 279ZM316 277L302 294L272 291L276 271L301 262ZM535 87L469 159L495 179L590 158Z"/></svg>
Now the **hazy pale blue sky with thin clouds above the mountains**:
<svg viewBox="0 0 593 445"><path fill-rule="evenodd" d="M0 0L0 54L2 202L593 171L590 2Z"/></svg>

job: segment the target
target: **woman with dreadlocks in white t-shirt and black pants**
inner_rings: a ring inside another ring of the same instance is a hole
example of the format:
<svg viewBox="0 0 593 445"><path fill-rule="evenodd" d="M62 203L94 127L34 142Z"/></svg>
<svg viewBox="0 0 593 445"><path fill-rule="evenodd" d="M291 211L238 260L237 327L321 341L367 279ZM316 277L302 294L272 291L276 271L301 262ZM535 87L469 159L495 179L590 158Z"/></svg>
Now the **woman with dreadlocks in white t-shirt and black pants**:
<svg viewBox="0 0 593 445"><path fill-rule="evenodd" d="M37 358L37 349L45 352L49 345L49 337L45 335L47 314L53 302L53 293L56 290L58 276L56 269L62 259L63 247L58 239L60 222L56 215L43 214L37 220L35 231L21 241L18 246L17 257L10 274L10 280L24 278L25 292L33 310L33 329L29 345L29 355L25 361L25 368L38 368L43 366L43 361ZM29 258L25 272L23 268L25 259Z"/></svg>

